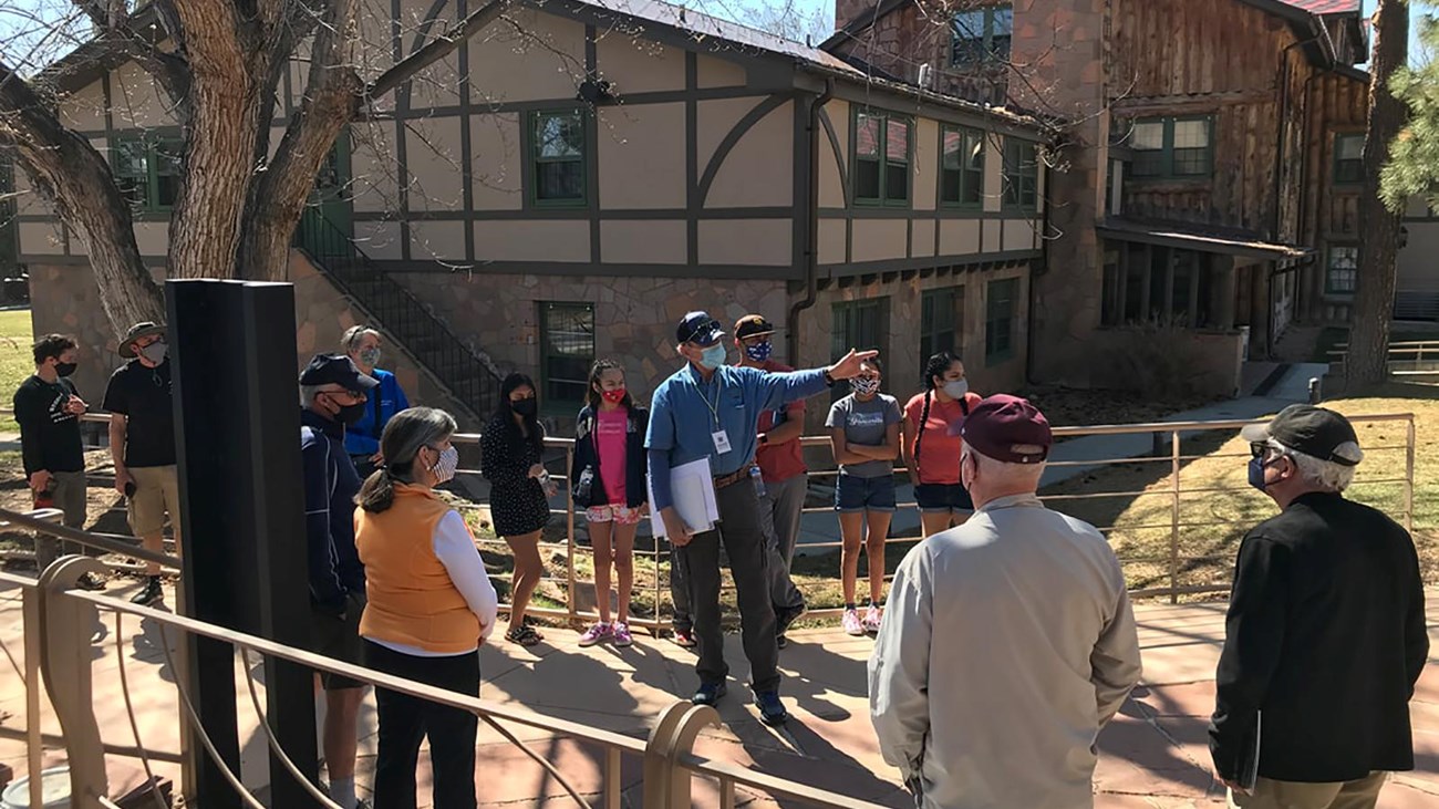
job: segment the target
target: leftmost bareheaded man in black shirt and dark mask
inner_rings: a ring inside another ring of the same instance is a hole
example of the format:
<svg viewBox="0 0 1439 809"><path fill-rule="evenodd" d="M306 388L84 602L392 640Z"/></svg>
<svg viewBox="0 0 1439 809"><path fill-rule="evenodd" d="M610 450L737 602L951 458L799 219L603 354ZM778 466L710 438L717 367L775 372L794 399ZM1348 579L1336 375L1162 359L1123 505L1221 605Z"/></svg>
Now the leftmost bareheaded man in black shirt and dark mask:
<svg viewBox="0 0 1439 809"><path fill-rule="evenodd" d="M35 376L14 392L14 420L20 425L24 474L35 492L36 507L53 505L65 512L65 525L85 527L85 446L81 440L81 416L85 400L69 376L75 373L76 343L65 334L46 334L35 343ZM60 554L60 543L37 534L35 563L49 567ZM65 544L65 553L79 548ZM86 574L81 584L102 589L104 583Z"/></svg>

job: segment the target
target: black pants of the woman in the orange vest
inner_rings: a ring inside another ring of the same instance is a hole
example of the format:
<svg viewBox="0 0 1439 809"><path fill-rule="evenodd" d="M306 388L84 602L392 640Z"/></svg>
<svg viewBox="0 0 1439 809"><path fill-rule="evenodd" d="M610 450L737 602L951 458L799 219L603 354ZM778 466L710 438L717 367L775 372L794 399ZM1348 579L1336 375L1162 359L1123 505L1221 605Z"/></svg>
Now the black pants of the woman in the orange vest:
<svg viewBox="0 0 1439 809"><path fill-rule="evenodd" d="M366 641L366 665L437 688L479 695L479 652L448 658L403 655ZM374 805L414 809L414 767L420 741L430 737L435 809L475 809L475 714L436 705L387 688L374 690L380 714L380 754L374 770Z"/></svg>

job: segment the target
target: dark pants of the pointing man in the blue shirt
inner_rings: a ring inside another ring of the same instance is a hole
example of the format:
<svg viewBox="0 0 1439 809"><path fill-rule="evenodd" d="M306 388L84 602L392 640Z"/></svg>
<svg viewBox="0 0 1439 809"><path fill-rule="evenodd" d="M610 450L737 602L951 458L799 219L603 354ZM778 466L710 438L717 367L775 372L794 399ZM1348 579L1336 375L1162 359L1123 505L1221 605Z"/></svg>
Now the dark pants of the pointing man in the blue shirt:
<svg viewBox="0 0 1439 809"><path fill-rule="evenodd" d="M770 603L764 530L760 527L760 498L748 481L731 484L715 492L720 527L696 534L679 548L694 599L695 641L699 682L724 682L730 666L724 661L724 632L720 629L720 544L730 557L744 655L750 658L750 685L755 691L780 687L780 648L774 641L774 605Z"/></svg>

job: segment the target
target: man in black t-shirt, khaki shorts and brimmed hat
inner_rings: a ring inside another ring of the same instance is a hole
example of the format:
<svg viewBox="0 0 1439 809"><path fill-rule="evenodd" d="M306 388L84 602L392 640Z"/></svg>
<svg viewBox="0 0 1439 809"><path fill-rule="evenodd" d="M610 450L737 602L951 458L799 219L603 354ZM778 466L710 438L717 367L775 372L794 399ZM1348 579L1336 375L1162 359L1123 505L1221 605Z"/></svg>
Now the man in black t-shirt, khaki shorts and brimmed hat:
<svg viewBox="0 0 1439 809"><path fill-rule="evenodd" d="M145 550L164 550L165 517L180 547L180 476L176 471L174 409L170 397L170 358L165 327L137 322L119 341L130 360L115 370L105 389L109 412L109 453L115 461L115 491L130 507L130 530ZM150 606L164 596L160 566L145 564L145 587L131 599Z"/></svg>

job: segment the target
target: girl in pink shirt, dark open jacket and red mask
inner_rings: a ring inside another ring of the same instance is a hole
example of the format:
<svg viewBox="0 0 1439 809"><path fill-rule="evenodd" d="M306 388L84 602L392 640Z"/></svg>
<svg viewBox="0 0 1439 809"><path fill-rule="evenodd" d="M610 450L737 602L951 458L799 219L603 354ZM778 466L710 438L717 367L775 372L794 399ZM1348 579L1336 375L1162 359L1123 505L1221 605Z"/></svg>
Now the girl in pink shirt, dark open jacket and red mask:
<svg viewBox="0 0 1439 809"><path fill-rule="evenodd" d="M625 389L625 369L600 360L590 370L586 404L574 430L574 505L584 508L594 550L594 602L600 620L581 646L629 646L635 582L635 531L648 511L645 430L649 413ZM619 579L619 615L610 622L610 564Z"/></svg>

